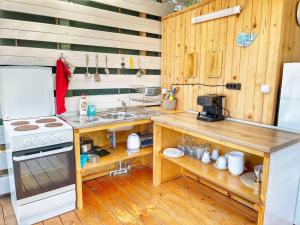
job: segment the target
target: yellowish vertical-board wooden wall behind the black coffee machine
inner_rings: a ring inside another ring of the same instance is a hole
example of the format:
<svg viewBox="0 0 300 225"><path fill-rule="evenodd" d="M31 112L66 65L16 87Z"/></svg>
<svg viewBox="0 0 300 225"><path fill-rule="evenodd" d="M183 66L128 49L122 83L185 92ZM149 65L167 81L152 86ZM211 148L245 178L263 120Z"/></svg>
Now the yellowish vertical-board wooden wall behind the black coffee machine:
<svg viewBox="0 0 300 225"><path fill-rule="evenodd" d="M182 12L163 18L162 84L203 83L242 84L241 91L224 87L181 86L178 108L201 110L196 99L203 94L225 94L226 108L233 118L273 124L277 95L284 62L300 60L299 34L296 25L298 0L204 0ZM222 19L192 24L191 18L224 8L245 5L242 13ZM258 36L247 48L236 44L240 32ZM196 77L184 75L186 53L197 53ZM210 52L222 54L221 77L208 78ZM271 93L262 94L262 84L271 86Z"/></svg>

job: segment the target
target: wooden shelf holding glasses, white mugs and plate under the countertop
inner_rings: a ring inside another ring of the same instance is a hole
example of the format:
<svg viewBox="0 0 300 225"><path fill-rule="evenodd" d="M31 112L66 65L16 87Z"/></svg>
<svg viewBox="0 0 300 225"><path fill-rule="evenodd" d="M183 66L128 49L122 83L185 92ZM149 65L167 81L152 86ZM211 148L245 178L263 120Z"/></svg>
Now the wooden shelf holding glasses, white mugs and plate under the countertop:
<svg viewBox="0 0 300 225"><path fill-rule="evenodd" d="M205 179L206 181L224 188L231 193L239 195L252 203L260 202L259 197L253 194L253 190L251 188L248 188L241 182L239 176L231 175L228 170L218 170L213 166L213 163L204 164L189 156L169 158L162 153L160 153L160 156Z"/></svg>

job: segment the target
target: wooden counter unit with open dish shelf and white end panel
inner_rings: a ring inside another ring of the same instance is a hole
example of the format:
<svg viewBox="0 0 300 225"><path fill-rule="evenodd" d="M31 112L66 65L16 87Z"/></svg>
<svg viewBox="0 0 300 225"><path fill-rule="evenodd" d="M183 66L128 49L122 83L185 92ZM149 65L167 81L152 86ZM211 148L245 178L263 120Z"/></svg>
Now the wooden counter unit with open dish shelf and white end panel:
<svg viewBox="0 0 300 225"><path fill-rule="evenodd" d="M298 134L227 120L207 123L198 121L192 113L162 115L152 120L155 186L186 175L210 187L214 191L204 191L236 207L240 213L250 217L256 213L258 224L293 224L300 179ZM209 143L221 154L233 150L244 152L249 170L262 164L261 194L255 195L239 176L217 170L212 164L203 164L189 156L164 156L162 151L177 147L182 135L191 136L198 143Z"/></svg>

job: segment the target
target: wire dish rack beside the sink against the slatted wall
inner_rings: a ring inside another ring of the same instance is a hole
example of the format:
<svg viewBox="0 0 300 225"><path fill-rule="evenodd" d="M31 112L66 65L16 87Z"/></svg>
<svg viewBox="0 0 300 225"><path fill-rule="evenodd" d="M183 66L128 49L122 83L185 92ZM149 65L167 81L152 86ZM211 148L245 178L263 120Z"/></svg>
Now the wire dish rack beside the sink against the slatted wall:
<svg viewBox="0 0 300 225"><path fill-rule="evenodd" d="M149 88L143 85L129 87L129 106L160 105L160 88Z"/></svg>

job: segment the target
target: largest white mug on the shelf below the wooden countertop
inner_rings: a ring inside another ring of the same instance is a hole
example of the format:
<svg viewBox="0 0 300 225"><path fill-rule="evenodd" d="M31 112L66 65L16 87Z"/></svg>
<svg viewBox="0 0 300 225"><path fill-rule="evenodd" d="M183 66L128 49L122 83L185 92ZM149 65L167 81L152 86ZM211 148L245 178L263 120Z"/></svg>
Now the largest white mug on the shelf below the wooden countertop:
<svg viewBox="0 0 300 225"><path fill-rule="evenodd" d="M228 157L228 170L234 176L239 176L244 172L245 154L243 152L230 152Z"/></svg>

